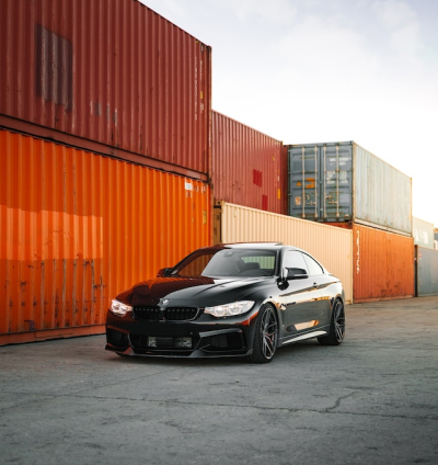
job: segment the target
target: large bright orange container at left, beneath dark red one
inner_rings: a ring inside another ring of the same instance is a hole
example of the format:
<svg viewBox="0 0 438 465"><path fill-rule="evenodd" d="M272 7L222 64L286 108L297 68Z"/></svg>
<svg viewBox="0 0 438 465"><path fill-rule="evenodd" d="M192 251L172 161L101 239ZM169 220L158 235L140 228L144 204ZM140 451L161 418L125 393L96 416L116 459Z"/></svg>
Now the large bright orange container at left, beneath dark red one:
<svg viewBox="0 0 438 465"><path fill-rule="evenodd" d="M108 303L211 243L207 183L0 131L0 344L103 332Z"/></svg>

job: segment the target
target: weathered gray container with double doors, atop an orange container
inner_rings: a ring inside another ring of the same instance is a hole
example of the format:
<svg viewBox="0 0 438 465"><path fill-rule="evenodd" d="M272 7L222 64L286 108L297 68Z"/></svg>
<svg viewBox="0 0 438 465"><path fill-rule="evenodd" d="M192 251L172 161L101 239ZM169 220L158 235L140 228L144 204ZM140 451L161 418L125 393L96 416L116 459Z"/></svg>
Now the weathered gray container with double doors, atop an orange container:
<svg viewBox="0 0 438 465"><path fill-rule="evenodd" d="M288 146L289 215L412 236L412 179L354 141Z"/></svg>

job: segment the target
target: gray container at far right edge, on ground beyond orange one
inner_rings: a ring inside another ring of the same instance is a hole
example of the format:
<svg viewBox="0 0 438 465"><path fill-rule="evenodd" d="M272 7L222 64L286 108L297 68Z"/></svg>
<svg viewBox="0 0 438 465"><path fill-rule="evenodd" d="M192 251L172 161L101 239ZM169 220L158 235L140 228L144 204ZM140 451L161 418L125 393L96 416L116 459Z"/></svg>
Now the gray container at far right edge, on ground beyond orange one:
<svg viewBox="0 0 438 465"><path fill-rule="evenodd" d="M438 250L415 246L416 295L438 295Z"/></svg>

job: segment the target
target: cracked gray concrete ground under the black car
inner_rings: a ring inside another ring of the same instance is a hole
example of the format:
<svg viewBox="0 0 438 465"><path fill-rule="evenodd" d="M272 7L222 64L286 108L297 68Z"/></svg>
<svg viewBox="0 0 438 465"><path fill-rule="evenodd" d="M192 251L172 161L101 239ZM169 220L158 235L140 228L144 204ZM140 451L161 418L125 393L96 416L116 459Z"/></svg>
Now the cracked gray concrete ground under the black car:
<svg viewBox="0 0 438 465"><path fill-rule="evenodd" d="M1 464L438 464L438 297L347 307L267 365L0 348Z"/></svg>

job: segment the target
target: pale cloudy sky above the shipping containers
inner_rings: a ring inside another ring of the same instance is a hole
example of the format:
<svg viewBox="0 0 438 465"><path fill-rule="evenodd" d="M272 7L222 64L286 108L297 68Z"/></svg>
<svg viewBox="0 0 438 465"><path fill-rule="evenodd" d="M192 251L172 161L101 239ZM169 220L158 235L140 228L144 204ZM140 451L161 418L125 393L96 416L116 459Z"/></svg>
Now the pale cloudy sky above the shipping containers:
<svg viewBox="0 0 438 465"><path fill-rule="evenodd" d="M211 46L215 111L284 144L354 140L438 228L438 0L141 1Z"/></svg>

